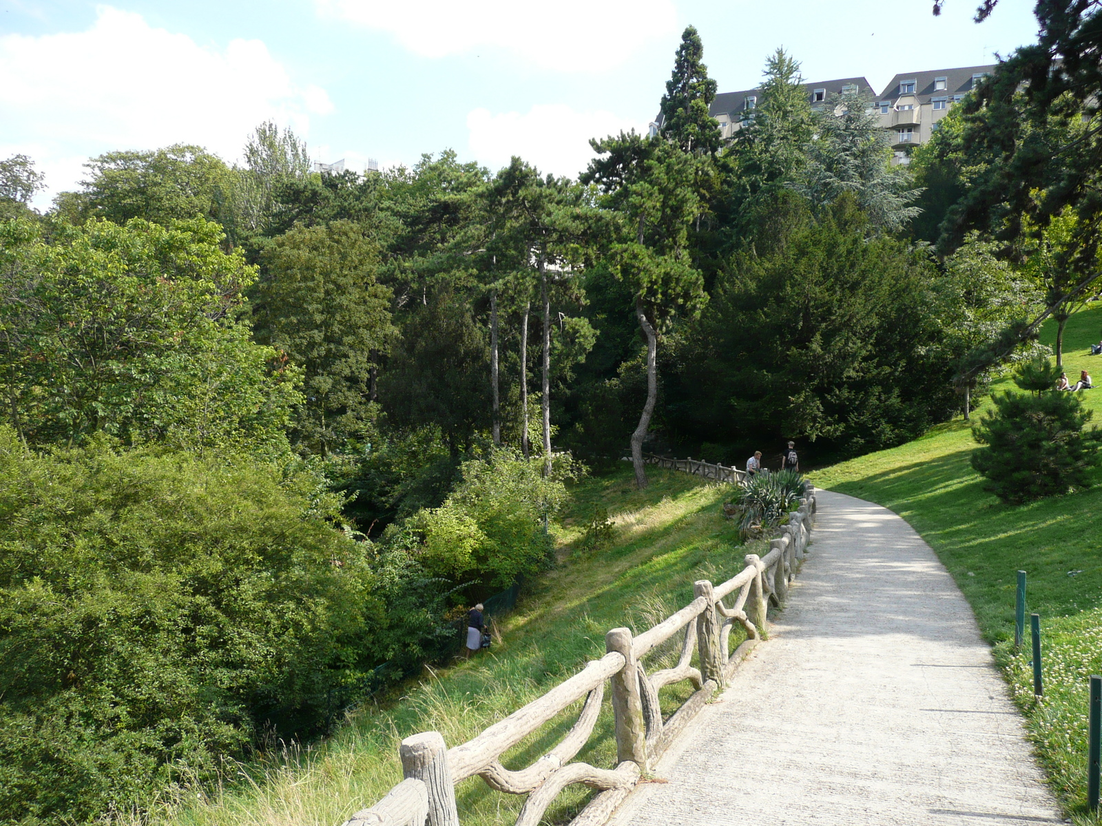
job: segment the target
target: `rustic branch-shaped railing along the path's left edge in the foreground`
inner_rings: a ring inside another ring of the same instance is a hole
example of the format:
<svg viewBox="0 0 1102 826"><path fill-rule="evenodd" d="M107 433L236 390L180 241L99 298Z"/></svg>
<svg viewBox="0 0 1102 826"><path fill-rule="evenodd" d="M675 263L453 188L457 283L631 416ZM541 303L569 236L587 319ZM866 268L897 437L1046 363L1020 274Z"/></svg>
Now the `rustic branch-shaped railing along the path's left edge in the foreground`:
<svg viewBox="0 0 1102 826"><path fill-rule="evenodd" d="M562 790L582 783L598 790L571 826L602 826L635 786L641 772L674 741L688 722L724 683L766 632L766 613L773 602L782 606L788 586L803 558L815 512L814 489L809 485L800 508L769 543L765 556L749 554L745 567L721 585L701 579L694 599L680 611L644 633L627 628L605 634L607 653L591 661L574 676L542 697L514 711L474 739L446 748L436 731L408 737L399 753L406 779L381 801L353 815L345 826L460 826L455 784L474 775L491 789L527 794L517 826L537 826ZM725 600L728 600L730 605ZM727 653L731 631L738 623L746 640ZM646 659L667 640L684 630L677 665L647 673ZM692 665L699 652L700 667ZM690 681L693 693L663 719L658 692ZM608 681L616 726L616 765L602 769L571 762L588 741L597 724ZM552 720L570 705L585 699L577 720L561 742L526 769L510 770L501 756Z"/></svg>

